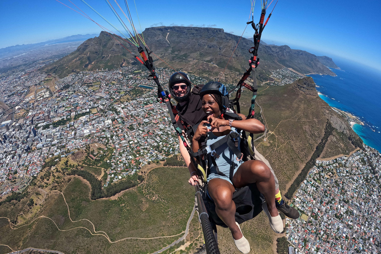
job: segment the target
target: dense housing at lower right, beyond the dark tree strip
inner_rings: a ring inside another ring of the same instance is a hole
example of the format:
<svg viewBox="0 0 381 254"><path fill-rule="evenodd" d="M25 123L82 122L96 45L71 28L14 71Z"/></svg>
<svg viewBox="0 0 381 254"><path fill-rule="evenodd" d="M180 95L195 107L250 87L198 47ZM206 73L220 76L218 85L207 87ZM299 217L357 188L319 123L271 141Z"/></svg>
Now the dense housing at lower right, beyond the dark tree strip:
<svg viewBox="0 0 381 254"><path fill-rule="evenodd" d="M286 221L295 254L380 253L381 154L365 146L351 156L316 161L292 200Z"/></svg>

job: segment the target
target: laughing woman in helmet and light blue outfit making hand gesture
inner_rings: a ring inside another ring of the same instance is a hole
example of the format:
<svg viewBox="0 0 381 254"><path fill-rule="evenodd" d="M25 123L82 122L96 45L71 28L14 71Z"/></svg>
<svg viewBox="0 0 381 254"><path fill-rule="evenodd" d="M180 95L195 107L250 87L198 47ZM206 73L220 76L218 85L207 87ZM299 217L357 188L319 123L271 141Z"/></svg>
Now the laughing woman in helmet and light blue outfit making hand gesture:
<svg viewBox="0 0 381 254"><path fill-rule="evenodd" d="M206 145L209 146L222 139L225 135L229 135L231 131L236 132L237 129L250 133L264 131L264 126L258 120L246 119L241 114L240 116L245 120L232 121L224 119L225 107L223 100L226 98L223 95L227 95L227 90L219 82L209 82L201 89L202 109L206 113L206 118L201 121L192 138L193 152L197 152L200 148L200 139L203 136L206 137ZM262 204L262 208L269 218L272 229L275 232L282 232L283 222L273 201L275 197L274 177L263 162L258 160L243 162L240 160L226 142L217 147L215 151L218 156L214 156L214 162L211 161L211 155L204 158L207 160L210 172L207 177L207 192L216 205L217 215L229 227L238 250L242 253L249 253L249 242L243 236L239 224L235 221L236 207L232 200L233 193L236 188L239 189L255 183L257 189L267 201ZM234 169L233 176L230 176L231 167ZM189 182L197 180L198 177L192 175Z"/></svg>

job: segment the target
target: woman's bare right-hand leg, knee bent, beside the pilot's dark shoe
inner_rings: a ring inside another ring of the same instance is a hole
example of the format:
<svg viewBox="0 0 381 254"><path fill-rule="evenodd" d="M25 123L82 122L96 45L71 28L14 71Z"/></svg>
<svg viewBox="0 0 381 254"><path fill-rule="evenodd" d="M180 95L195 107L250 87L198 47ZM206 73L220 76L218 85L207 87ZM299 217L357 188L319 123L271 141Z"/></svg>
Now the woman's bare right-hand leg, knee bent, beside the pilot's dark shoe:
<svg viewBox="0 0 381 254"><path fill-rule="evenodd" d="M266 199L268 211L272 217L278 216L275 206L275 181L270 169L261 161L245 161L233 176L233 184L236 188L242 188L248 184L256 184Z"/></svg>

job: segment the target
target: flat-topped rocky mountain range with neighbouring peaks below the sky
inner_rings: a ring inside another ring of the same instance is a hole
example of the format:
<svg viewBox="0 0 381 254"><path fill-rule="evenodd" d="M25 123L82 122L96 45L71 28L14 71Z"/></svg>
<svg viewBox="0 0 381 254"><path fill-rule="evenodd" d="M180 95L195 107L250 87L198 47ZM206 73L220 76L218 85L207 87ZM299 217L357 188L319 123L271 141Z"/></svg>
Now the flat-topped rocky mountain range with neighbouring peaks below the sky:
<svg viewBox="0 0 381 254"><path fill-rule="evenodd" d="M154 55L156 67L168 67L189 71L193 74L210 79L221 75L228 64L239 36L225 33L223 29L201 27L151 27L143 31L146 44ZM82 70L101 68L116 68L129 64L139 64L121 45L137 55L136 48L118 39L114 40L108 33L88 39L76 51L61 60L45 66L43 70L64 77L70 73ZM227 70L222 76L224 82L236 80L249 67L253 41L242 38L230 60ZM259 81L266 81L271 75L270 70L284 67L297 72L335 75L326 66L336 66L328 57L318 58L302 50L293 50L288 46L275 46L262 43L258 57L260 64L256 70ZM324 62L320 62L320 59ZM337 66L336 66L337 67Z"/></svg>

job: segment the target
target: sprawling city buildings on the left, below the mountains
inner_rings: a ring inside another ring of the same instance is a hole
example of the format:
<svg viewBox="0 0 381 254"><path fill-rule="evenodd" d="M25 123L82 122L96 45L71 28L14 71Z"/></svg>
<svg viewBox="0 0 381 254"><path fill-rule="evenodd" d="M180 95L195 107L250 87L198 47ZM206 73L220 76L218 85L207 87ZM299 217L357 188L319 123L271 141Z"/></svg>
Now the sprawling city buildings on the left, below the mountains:
<svg viewBox="0 0 381 254"><path fill-rule="evenodd" d="M172 74L157 72L164 81ZM8 109L14 111L11 119L1 120L0 195L22 191L46 159L68 156L87 144L114 150L105 186L179 152L168 109L156 100L156 84L137 67L71 74L54 88L44 82L50 78L36 71L0 80L0 99L18 105ZM205 80L194 77L197 81Z"/></svg>

